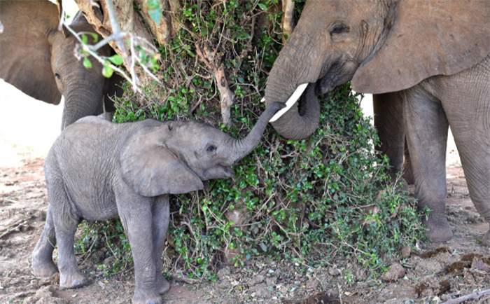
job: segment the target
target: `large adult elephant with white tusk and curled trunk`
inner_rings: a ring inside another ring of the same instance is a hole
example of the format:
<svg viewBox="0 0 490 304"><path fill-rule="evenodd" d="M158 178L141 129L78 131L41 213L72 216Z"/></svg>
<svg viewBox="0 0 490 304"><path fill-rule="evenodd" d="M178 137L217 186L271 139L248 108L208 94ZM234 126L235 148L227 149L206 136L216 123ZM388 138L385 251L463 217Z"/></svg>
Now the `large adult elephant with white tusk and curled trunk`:
<svg viewBox="0 0 490 304"><path fill-rule="evenodd" d="M452 237L444 214L449 125L471 199L490 221L489 53L490 1L308 0L269 74L265 102L284 102L309 83L300 106L273 123L300 139L318 125L317 95L348 81L380 94L386 115L404 117L418 207L432 210L427 235L442 242Z"/></svg>

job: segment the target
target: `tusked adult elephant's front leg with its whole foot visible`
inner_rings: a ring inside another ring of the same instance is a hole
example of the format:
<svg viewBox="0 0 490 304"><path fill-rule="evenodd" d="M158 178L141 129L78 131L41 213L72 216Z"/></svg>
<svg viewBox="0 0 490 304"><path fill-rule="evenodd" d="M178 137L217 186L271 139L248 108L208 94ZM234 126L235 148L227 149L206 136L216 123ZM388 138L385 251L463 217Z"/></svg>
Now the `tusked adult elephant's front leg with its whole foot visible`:
<svg viewBox="0 0 490 304"><path fill-rule="evenodd" d="M452 237L446 210L446 143L449 125L438 99L419 85L405 92L405 134L415 179L415 198L419 210L428 207L423 217L426 235L433 242Z"/></svg>

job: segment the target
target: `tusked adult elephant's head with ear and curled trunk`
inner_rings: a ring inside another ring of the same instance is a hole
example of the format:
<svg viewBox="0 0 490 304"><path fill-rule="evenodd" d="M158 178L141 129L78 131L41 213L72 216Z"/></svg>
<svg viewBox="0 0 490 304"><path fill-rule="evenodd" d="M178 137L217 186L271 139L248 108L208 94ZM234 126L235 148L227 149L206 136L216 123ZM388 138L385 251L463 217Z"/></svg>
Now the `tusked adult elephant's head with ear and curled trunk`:
<svg viewBox="0 0 490 304"><path fill-rule="evenodd" d="M307 0L267 78L266 105L309 85L272 125L303 139L318 127L316 97L337 85L393 92L468 69L490 53L489 18L489 1Z"/></svg>

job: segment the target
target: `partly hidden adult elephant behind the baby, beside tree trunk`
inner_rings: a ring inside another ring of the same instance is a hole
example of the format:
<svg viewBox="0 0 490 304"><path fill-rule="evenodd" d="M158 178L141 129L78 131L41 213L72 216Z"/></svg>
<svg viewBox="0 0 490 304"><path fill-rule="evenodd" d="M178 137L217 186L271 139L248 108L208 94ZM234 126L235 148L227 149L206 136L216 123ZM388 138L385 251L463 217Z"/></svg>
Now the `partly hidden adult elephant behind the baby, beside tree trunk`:
<svg viewBox="0 0 490 304"><path fill-rule="evenodd" d="M57 6L49 1L0 1L0 78L25 94L59 104L64 95L62 129L78 118L113 111L109 96L122 95L123 78L102 76L102 64L86 69L73 55L78 41L58 31ZM81 13L73 18L75 32L95 32ZM90 35L87 35L91 37ZM101 37L99 36L99 39ZM98 53L110 56L109 46Z"/></svg>

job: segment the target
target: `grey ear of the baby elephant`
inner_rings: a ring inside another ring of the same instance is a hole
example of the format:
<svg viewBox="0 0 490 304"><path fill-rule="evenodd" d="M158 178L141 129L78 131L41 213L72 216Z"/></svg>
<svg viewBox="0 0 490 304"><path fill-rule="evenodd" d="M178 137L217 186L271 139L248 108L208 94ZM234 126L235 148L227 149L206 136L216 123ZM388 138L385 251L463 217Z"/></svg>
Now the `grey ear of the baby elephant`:
<svg viewBox="0 0 490 304"><path fill-rule="evenodd" d="M204 188L186 163L165 147L170 132L167 125L144 127L128 139L120 155L123 179L140 195L181 194Z"/></svg>

